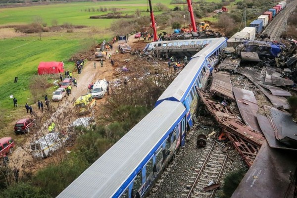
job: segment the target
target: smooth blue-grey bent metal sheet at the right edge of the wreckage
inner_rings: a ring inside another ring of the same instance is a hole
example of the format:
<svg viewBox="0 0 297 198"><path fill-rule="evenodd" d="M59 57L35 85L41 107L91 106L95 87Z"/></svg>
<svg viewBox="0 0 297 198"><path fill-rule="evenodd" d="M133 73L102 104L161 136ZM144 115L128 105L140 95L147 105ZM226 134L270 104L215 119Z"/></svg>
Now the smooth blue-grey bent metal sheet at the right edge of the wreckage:
<svg viewBox="0 0 297 198"><path fill-rule="evenodd" d="M297 148L297 124L289 113L270 109L272 125L275 125L275 137L290 148Z"/></svg>

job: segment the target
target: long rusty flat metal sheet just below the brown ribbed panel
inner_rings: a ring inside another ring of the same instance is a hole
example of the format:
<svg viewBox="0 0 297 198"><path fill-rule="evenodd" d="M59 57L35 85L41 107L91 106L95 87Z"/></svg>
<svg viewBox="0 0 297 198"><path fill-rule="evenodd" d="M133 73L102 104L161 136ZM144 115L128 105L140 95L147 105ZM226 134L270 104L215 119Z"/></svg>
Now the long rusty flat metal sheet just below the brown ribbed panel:
<svg viewBox="0 0 297 198"><path fill-rule="evenodd" d="M256 117L258 104L254 94L249 90L233 87L234 96L245 123L252 129L261 132Z"/></svg>

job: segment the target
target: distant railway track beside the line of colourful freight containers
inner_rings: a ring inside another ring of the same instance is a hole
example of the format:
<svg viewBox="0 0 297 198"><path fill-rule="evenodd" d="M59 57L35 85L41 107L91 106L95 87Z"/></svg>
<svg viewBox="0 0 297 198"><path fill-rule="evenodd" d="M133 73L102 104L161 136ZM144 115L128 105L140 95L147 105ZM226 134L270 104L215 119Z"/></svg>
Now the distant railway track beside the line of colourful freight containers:
<svg viewBox="0 0 297 198"><path fill-rule="evenodd" d="M286 6L285 10L281 13L278 14L278 16L273 20L275 21L273 24L271 24L271 27L269 27L270 31L263 31L262 34L268 34L271 39L277 40L279 38L279 35L282 33L284 30L284 24L287 21L287 18L291 14L291 12L295 9L297 6L297 0L294 2L290 3L289 5ZM268 32L269 31L269 32Z"/></svg>

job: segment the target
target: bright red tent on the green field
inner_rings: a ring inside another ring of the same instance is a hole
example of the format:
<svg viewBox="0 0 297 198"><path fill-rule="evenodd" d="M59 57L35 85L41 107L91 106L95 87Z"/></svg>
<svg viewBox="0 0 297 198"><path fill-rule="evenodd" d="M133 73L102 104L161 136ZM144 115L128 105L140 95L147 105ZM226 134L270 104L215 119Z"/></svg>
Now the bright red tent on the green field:
<svg viewBox="0 0 297 198"><path fill-rule="evenodd" d="M38 65L38 74L57 74L64 72L63 62L40 62Z"/></svg>

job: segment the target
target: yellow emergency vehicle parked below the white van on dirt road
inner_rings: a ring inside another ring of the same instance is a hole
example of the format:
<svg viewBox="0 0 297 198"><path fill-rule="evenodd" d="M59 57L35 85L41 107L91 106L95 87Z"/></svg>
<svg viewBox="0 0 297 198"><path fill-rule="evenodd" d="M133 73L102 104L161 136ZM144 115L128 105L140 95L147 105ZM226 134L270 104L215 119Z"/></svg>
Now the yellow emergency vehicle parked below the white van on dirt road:
<svg viewBox="0 0 297 198"><path fill-rule="evenodd" d="M87 114L96 105L96 99L91 94L80 96L75 101L75 107L79 115Z"/></svg>

